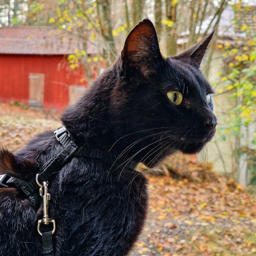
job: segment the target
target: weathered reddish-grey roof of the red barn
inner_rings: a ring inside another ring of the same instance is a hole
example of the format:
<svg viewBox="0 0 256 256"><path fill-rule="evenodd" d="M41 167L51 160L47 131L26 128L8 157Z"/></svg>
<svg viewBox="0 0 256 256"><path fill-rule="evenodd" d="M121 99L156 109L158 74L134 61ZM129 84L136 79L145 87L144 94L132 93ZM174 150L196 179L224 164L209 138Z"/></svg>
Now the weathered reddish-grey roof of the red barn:
<svg viewBox="0 0 256 256"><path fill-rule="evenodd" d="M72 54L83 49L82 40L53 27L0 27L0 54ZM88 54L97 48L87 43Z"/></svg>

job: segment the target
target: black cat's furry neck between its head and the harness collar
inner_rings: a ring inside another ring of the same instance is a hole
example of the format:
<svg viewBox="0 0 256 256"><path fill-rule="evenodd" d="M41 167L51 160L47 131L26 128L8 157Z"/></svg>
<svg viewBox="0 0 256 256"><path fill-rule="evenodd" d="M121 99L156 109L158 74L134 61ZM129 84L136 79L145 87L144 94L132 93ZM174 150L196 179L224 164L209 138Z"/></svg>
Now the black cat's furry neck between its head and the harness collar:
<svg viewBox="0 0 256 256"><path fill-rule="evenodd" d="M128 105L125 113L120 112L123 104L132 100L123 93L125 82L122 79L120 60L117 60L66 110L61 120L75 143L81 146L97 148L122 159L143 160L146 164L152 159L158 162L164 153L154 153L157 142L153 143L154 138L150 136L145 139L149 133L140 131L143 130L139 125L140 117L135 116Z"/></svg>

